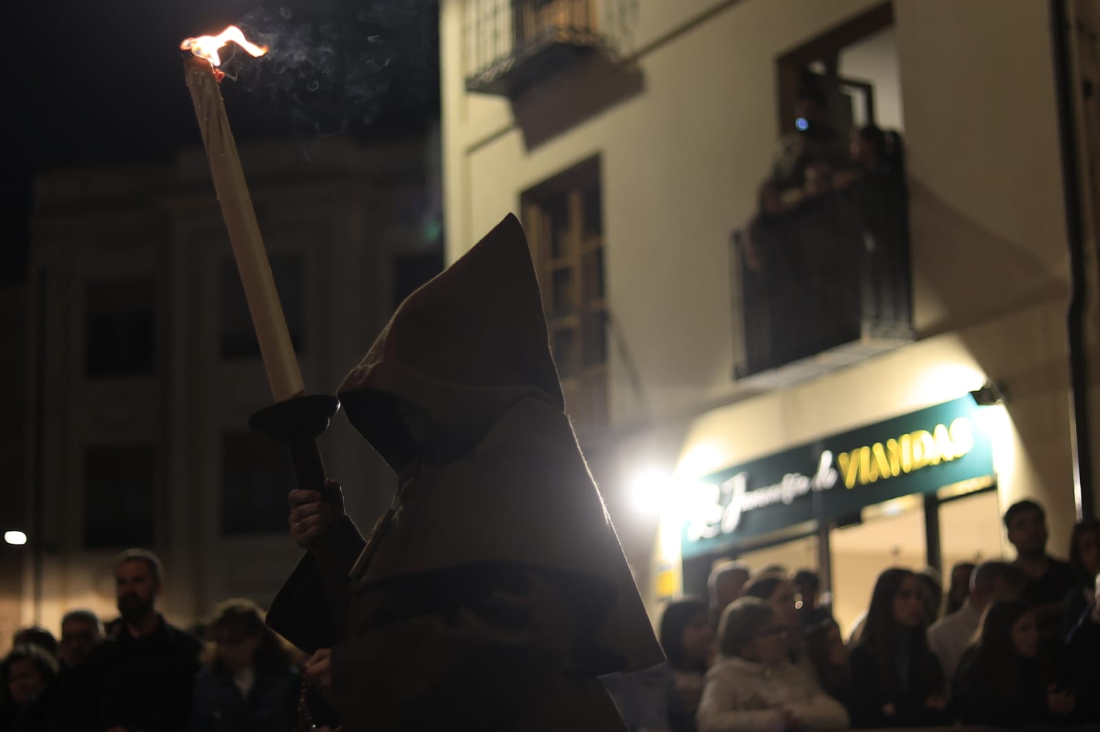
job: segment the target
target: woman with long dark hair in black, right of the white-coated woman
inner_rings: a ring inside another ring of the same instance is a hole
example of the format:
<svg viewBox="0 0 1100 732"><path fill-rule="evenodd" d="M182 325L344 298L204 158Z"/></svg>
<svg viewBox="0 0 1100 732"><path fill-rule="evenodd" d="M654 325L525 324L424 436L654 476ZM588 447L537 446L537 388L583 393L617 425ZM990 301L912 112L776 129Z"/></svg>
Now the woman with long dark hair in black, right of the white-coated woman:
<svg viewBox="0 0 1100 732"><path fill-rule="evenodd" d="M879 575L849 655L853 728L934 727L949 720L939 662L925 637L924 590L909 569Z"/></svg>

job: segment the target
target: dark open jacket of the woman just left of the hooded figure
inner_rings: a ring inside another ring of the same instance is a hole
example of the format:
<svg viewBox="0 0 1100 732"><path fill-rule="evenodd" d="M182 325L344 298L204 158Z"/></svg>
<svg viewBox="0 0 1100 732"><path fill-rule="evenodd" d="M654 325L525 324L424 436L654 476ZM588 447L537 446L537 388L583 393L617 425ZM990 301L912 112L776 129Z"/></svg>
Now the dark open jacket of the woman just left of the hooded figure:
<svg viewBox="0 0 1100 732"><path fill-rule="evenodd" d="M190 732L290 732L297 722L301 674L294 667L256 670L248 698L217 664L195 680Z"/></svg>

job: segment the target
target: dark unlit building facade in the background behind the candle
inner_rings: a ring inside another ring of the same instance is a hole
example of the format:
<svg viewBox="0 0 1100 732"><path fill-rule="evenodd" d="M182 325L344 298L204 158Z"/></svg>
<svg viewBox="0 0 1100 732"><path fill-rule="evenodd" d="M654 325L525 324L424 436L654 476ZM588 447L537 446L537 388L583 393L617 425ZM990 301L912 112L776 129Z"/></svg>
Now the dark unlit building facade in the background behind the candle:
<svg viewBox="0 0 1100 732"><path fill-rule="evenodd" d="M241 147L308 391L334 392L395 302L438 271L429 156L418 141ZM22 622L114 617L111 566L128 546L164 561L174 622L228 597L270 602L299 556L293 474L248 428L272 396L204 151L41 176L30 281ZM320 445L370 525L388 472L345 420Z"/></svg>

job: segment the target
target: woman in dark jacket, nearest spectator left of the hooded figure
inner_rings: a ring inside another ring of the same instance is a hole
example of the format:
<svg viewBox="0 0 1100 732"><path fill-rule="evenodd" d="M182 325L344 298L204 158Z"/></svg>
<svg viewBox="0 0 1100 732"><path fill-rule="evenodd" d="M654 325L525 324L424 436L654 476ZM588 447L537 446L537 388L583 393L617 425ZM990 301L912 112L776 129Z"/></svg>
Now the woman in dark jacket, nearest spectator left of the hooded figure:
<svg viewBox="0 0 1100 732"><path fill-rule="evenodd" d="M207 625L210 643L195 681L191 732L289 732L301 677L251 600L227 600Z"/></svg>

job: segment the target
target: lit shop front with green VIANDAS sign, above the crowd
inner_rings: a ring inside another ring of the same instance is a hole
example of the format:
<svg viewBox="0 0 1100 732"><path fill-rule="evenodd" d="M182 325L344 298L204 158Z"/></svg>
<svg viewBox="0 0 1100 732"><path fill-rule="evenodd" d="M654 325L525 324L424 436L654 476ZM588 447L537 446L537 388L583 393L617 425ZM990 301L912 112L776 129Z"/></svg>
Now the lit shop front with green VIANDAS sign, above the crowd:
<svg viewBox="0 0 1100 732"><path fill-rule="evenodd" d="M1000 556L989 410L972 397L730 466L684 490L683 590L715 563L816 569L847 630L889 566Z"/></svg>

